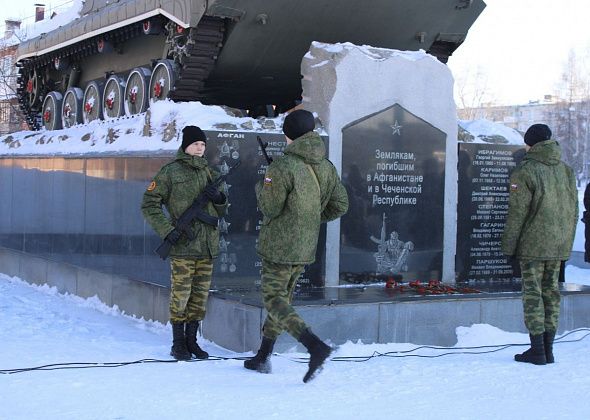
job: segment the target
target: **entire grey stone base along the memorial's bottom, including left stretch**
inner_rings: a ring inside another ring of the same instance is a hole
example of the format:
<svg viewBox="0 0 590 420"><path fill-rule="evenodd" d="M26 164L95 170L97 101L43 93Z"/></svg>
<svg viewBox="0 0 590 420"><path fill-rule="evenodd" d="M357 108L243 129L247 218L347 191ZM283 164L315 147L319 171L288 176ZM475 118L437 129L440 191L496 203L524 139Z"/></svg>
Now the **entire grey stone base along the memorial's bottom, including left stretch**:
<svg viewBox="0 0 590 420"><path fill-rule="evenodd" d="M574 260L574 258L572 258ZM168 322L169 289L60 263L0 247L2 273L55 287L59 293L98 297L108 306L137 318ZM460 284L453 287L459 289ZM480 293L422 295L398 292L380 285L303 287L295 295L296 310L322 339L332 344L414 343L452 346L459 326L485 323L505 331L526 333L522 318L520 283L472 282ZM590 326L590 286L561 285L558 333ZM227 349L254 351L266 312L259 287L221 287L211 292L203 335ZM283 334L275 350L304 349Z"/></svg>

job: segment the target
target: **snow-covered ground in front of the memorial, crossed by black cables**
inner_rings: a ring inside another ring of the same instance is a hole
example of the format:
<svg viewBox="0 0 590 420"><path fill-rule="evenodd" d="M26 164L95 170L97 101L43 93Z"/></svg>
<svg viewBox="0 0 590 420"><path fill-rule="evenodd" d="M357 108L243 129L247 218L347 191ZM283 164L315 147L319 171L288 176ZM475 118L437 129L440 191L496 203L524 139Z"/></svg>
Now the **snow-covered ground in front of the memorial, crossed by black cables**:
<svg viewBox="0 0 590 420"><path fill-rule="evenodd" d="M490 325L457 328L462 346L525 343ZM590 330L577 331L566 340ZM96 299L60 295L0 274L0 370L53 363L170 360L170 327L121 314ZM240 357L201 339L212 355ZM401 352L412 344L346 343L337 357ZM462 350L481 352L496 350ZM590 336L558 343L557 362L513 361L526 346L437 358L332 361L302 382L304 354L273 357L270 375L240 360L0 374L0 419L587 419ZM440 355L459 349L421 349Z"/></svg>

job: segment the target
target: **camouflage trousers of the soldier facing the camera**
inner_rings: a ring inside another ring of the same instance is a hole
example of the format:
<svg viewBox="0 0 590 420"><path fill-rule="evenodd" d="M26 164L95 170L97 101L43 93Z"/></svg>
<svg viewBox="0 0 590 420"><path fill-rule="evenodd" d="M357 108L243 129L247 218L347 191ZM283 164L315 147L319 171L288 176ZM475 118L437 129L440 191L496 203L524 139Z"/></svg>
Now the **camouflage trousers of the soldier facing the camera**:
<svg viewBox="0 0 590 420"><path fill-rule="evenodd" d="M171 258L170 322L205 318L213 260Z"/></svg>

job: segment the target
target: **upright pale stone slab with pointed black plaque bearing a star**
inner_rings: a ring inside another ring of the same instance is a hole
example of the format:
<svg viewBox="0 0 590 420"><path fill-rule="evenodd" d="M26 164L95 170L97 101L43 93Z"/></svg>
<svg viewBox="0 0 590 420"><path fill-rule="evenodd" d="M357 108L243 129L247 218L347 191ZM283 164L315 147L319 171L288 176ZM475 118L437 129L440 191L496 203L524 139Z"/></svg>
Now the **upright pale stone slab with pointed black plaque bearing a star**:
<svg viewBox="0 0 590 420"><path fill-rule="evenodd" d="M453 282L457 118L449 69L424 52L313 43L302 73L303 106L324 123L350 196L349 213L328 226L326 284L371 273ZM401 251L386 243L395 236Z"/></svg>

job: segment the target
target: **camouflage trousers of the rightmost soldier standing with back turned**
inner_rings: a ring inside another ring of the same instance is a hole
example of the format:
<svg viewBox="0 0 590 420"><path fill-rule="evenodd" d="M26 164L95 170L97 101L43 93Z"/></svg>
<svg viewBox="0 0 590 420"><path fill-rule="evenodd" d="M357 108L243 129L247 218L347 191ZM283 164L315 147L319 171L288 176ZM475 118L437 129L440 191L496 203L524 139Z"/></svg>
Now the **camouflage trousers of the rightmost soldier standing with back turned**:
<svg viewBox="0 0 590 420"><path fill-rule="evenodd" d="M524 324L531 335L557 331L561 261L521 260Z"/></svg>

